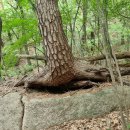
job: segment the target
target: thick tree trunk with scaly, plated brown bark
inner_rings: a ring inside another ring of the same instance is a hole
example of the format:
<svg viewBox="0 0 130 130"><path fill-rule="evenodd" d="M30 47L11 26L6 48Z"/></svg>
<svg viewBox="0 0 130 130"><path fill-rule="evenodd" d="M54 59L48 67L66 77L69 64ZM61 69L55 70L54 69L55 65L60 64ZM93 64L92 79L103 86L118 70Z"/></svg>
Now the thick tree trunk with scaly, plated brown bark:
<svg viewBox="0 0 130 130"><path fill-rule="evenodd" d="M57 0L37 0L37 14L46 49L47 84L58 86L74 77L74 59L64 34Z"/></svg>

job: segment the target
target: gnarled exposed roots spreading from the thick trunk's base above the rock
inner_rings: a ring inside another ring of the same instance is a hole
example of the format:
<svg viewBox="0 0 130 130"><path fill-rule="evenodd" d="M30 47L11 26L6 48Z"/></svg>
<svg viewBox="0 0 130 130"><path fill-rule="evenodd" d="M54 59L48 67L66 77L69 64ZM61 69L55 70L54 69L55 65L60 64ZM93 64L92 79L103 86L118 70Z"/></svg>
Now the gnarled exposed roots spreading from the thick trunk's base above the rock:
<svg viewBox="0 0 130 130"><path fill-rule="evenodd" d="M44 72L35 77L32 76L31 78L20 80L15 84L15 87L25 84L26 88L43 87L79 89L82 87L97 86L99 82L111 81L107 68L87 65L86 62L75 61L74 70L73 78L70 82L66 82L66 84L55 85L55 81L50 78L51 73L45 68ZM121 70L121 75L130 75L130 69ZM64 80L64 78L60 80Z"/></svg>

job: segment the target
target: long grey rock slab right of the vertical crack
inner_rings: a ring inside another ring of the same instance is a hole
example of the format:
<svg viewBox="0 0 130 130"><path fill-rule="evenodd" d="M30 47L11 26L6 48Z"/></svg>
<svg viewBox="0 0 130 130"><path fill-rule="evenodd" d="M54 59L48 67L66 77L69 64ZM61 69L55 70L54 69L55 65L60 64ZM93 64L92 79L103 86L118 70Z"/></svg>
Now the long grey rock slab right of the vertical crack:
<svg viewBox="0 0 130 130"><path fill-rule="evenodd" d="M130 88L125 89L128 92L126 102L130 106ZM29 99L25 96L23 102L23 130L43 130L69 120L103 115L119 106L112 89L62 98Z"/></svg>

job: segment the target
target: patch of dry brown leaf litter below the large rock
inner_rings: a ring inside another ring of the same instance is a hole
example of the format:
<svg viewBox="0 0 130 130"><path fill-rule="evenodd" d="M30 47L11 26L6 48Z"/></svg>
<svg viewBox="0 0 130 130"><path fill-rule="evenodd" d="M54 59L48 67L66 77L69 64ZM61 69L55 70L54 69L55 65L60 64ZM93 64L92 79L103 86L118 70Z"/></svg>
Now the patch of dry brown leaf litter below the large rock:
<svg viewBox="0 0 130 130"><path fill-rule="evenodd" d="M119 111L114 111L97 118L65 122L47 130L122 130L121 116Z"/></svg>

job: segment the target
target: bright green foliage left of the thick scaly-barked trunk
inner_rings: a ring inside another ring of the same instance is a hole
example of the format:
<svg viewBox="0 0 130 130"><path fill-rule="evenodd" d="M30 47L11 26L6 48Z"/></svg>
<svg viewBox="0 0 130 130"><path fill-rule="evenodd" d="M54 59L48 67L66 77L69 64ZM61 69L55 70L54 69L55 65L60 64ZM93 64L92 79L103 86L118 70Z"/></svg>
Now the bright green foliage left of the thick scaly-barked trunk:
<svg viewBox="0 0 130 130"><path fill-rule="evenodd" d="M38 44L41 40L37 18L28 0L15 2L15 6L11 3L7 5L8 8L0 13L3 20L3 40L5 43L3 62L5 68L12 67L18 62L16 54L26 44L34 44L33 41ZM20 7L22 7L24 14L21 14ZM22 15L24 15L24 18L22 18ZM8 33L10 33L12 40L9 40Z"/></svg>

